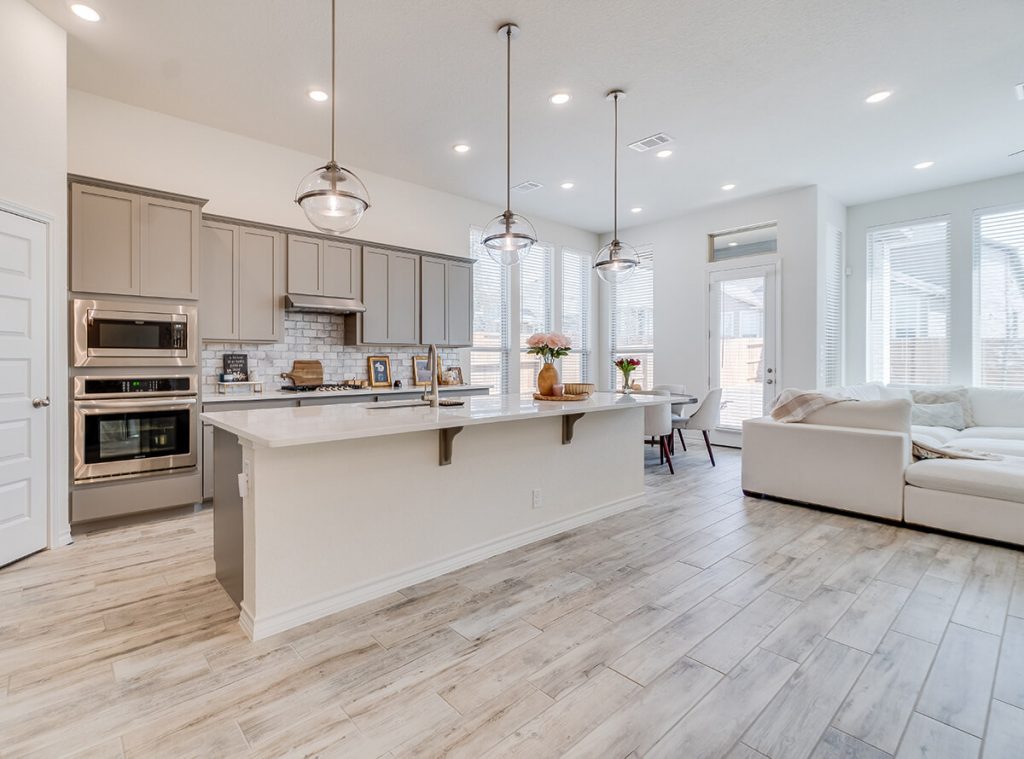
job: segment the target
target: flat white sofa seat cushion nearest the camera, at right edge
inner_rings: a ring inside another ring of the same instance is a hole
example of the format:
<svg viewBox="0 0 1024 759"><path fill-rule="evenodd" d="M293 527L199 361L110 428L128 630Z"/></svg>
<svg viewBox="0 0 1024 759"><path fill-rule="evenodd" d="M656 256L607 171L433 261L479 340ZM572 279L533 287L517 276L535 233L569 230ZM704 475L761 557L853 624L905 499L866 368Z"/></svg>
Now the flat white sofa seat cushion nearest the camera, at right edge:
<svg viewBox="0 0 1024 759"><path fill-rule="evenodd" d="M908 466L905 476L916 488L1024 503L1024 459L926 459Z"/></svg>

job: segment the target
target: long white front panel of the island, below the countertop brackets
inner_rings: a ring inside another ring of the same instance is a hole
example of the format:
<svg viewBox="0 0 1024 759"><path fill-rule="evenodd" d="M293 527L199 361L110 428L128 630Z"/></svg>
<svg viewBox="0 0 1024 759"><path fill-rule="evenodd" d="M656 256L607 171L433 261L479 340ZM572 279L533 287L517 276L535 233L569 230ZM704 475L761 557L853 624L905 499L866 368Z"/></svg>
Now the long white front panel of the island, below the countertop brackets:
<svg viewBox="0 0 1024 759"><path fill-rule="evenodd" d="M262 638L631 508L644 493L643 409L251 448L243 627ZM532 506L534 490L542 505Z"/></svg>

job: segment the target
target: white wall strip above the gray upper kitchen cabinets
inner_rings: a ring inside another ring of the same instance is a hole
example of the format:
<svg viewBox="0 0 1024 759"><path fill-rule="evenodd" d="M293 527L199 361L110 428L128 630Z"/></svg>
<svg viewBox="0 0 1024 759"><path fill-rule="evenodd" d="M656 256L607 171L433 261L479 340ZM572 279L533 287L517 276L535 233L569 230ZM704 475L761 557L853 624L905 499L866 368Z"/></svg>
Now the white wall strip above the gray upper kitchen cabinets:
<svg viewBox="0 0 1024 759"><path fill-rule="evenodd" d="M238 134L69 90L69 166L74 174L208 198L205 211L283 226L313 227L295 188L327 156L310 156ZM352 237L467 255L469 227L502 209L375 174L355 166L373 207ZM541 240L595 250L597 236L531 218Z"/></svg>

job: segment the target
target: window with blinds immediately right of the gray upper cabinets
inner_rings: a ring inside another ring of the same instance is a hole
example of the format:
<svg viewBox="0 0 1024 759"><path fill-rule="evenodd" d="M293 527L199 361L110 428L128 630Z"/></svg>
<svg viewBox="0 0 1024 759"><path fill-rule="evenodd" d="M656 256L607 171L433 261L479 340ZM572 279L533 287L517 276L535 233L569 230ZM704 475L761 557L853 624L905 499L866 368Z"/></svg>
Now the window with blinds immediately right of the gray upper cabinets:
<svg viewBox="0 0 1024 759"><path fill-rule="evenodd" d="M470 227L473 265L473 347L469 376L474 384L509 391L508 268L497 263L483 247L483 230Z"/></svg>

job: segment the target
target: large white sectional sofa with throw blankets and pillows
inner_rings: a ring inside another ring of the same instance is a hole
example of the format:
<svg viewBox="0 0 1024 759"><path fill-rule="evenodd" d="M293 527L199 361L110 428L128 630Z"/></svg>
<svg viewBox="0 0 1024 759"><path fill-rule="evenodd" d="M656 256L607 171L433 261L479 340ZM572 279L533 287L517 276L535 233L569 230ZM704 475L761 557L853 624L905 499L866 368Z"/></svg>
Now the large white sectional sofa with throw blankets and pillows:
<svg viewBox="0 0 1024 759"><path fill-rule="evenodd" d="M1024 389L966 388L964 429L911 424L922 389L836 388L857 402L744 422L743 491L1024 545ZM1001 458L915 461L911 439Z"/></svg>

